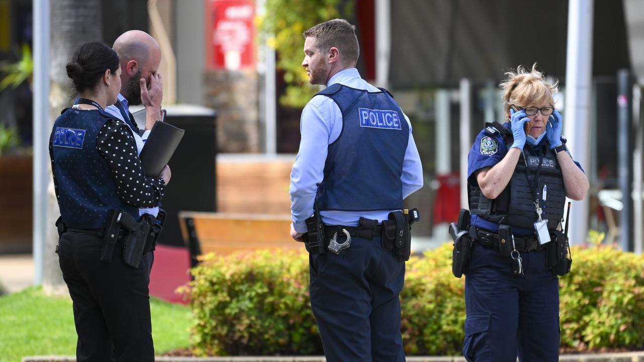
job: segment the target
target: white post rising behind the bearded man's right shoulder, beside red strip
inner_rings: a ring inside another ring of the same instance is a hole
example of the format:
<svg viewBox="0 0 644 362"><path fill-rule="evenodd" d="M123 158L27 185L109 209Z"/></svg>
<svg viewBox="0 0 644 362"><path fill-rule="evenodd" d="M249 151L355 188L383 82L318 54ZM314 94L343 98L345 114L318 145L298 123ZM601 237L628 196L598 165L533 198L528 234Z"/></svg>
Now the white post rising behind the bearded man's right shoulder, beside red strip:
<svg viewBox="0 0 644 362"><path fill-rule="evenodd" d="M392 45L390 0L375 1L375 84L388 88L389 61Z"/></svg>

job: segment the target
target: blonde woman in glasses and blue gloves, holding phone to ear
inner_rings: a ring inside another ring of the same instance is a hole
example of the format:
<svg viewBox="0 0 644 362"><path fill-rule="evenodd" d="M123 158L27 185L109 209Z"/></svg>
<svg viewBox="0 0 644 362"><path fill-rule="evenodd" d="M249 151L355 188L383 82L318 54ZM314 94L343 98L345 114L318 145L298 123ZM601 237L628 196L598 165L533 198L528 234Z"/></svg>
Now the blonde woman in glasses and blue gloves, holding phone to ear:
<svg viewBox="0 0 644 362"><path fill-rule="evenodd" d="M538 240L535 228L560 228L564 196L581 200L589 184L562 142L556 83L536 64L506 75L500 85L511 120L483 129L468 157L477 239L465 283L463 354L477 362L515 362L517 355L522 362L558 361L558 277L546 266L547 237ZM501 243L507 226L511 234Z"/></svg>

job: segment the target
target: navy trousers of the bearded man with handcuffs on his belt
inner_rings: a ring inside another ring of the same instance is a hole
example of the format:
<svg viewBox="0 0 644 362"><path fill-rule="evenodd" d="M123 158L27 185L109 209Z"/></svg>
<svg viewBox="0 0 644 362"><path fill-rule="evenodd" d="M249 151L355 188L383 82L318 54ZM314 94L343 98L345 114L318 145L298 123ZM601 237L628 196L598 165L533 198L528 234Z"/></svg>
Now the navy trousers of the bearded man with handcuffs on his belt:
<svg viewBox="0 0 644 362"><path fill-rule="evenodd" d="M344 240L338 240L343 242ZM381 238L310 256L310 296L328 362L404 362L399 293L404 262Z"/></svg>

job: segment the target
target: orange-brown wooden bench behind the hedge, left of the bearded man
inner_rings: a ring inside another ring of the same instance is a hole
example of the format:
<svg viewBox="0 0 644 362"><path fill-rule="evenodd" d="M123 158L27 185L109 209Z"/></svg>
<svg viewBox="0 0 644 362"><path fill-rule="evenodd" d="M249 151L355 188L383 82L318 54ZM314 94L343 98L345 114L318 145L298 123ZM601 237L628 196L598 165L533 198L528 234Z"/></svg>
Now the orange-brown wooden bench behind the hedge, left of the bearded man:
<svg viewBox="0 0 644 362"><path fill-rule="evenodd" d="M290 238L290 215L181 211L179 224L193 266L197 256L258 249L304 249Z"/></svg>

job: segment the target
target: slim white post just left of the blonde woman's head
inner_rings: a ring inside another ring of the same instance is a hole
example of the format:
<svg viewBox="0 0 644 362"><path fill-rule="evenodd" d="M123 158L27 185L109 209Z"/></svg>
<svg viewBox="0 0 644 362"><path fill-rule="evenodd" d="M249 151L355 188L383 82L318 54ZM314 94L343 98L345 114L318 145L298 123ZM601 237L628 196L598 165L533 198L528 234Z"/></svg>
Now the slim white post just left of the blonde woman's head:
<svg viewBox="0 0 644 362"><path fill-rule="evenodd" d="M471 119L471 84L469 79L460 80L460 208L468 205L468 154L472 147L469 139Z"/></svg>

